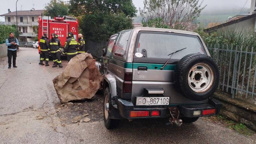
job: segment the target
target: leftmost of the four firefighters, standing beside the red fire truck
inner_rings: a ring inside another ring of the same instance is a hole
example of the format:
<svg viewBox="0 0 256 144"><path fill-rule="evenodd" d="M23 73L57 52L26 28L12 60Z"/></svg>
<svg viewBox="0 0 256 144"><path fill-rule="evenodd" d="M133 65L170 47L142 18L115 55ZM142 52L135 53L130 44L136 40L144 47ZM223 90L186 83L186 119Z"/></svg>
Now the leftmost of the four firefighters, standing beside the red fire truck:
<svg viewBox="0 0 256 144"><path fill-rule="evenodd" d="M44 35L41 37L39 41L39 46L41 49L39 64L44 65L43 60L45 59L45 66L49 66L48 61L49 61L50 48L49 48L47 33L44 33Z"/></svg>

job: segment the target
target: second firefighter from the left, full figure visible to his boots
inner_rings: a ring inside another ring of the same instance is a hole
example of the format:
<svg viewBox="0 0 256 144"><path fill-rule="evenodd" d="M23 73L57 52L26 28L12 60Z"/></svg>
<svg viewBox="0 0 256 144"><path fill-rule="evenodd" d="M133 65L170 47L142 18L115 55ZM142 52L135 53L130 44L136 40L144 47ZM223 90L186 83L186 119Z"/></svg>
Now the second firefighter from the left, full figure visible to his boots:
<svg viewBox="0 0 256 144"><path fill-rule="evenodd" d="M55 33L52 33L51 37L52 38L49 41L49 45L50 45L51 56L53 58L52 67L57 67L57 65L59 65L59 68L62 68L61 59L60 59L60 50L61 50L60 40L58 39L58 36Z"/></svg>

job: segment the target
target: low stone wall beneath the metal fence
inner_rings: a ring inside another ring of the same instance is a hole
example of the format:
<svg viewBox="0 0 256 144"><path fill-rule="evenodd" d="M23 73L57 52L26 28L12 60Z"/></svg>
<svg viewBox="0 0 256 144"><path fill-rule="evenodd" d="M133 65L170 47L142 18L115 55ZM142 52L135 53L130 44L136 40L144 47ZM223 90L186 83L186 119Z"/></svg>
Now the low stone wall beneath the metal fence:
<svg viewBox="0 0 256 144"><path fill-rule="evenodd" d="M235 122L244 123L247 127L256 130L256 105L232 99L229 95L220 92L214 93L214 98L222 103L220 115L226 116Z"/></svg>

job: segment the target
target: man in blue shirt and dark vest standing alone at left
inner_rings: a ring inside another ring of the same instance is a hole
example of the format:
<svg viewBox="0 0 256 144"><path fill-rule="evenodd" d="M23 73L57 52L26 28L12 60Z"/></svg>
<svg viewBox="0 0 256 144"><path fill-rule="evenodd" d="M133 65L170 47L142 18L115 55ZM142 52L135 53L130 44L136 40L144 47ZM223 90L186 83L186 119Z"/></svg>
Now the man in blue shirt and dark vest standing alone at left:
<svg viewBox="0 0 256 144"><path fill-rule="evenodd" d="M5 45L7 46L7 56L8 56L8 68L11 68L11 65L13 64L13 67L16 66L16 57L17 57L17 46L19 45L18 39L14 37L14 33L10 32L9 38L5 40Z"/></svg>

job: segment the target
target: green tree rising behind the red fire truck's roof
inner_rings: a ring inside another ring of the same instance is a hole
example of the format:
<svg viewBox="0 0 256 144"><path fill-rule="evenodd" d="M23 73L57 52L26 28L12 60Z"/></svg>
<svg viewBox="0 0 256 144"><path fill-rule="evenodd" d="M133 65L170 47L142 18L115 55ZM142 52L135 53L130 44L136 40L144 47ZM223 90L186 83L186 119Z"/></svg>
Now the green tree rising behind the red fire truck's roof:
<svg viewBox="0 0 256 144"><path fill-rule="evenodd" d="M49 14L51 17L68 15L68 3L62 0L51 0L50 3L45 6L43 14L46 16Z"/></svg>

